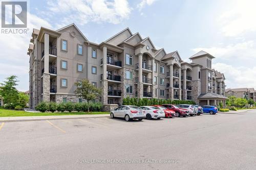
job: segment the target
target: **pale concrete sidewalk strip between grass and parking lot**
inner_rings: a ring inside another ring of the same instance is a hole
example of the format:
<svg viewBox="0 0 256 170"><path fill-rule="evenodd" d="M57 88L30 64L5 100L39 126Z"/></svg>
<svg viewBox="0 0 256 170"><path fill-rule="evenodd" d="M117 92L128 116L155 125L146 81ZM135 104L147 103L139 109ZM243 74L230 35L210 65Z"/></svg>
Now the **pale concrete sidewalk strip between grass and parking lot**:
<svg viewBox="0 0 256 170"><path fill-rule="evenodd" d="M17 116L17 117L0 117L1 122L24 122L35 120L57 120L57 119L78 119L78 118L100 118L110 117L109 114L86 114L86 115L58 115L58 116Z"/></svg>

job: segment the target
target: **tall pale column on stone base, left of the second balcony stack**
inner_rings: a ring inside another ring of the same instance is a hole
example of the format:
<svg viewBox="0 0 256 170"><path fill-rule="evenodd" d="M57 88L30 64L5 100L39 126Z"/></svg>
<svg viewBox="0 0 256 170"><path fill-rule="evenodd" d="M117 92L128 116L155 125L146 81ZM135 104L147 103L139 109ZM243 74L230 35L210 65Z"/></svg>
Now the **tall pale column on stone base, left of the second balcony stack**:
<svg viewBox="0 0 256 170"><path fill-rule="evenodd" d="M103 105L108 104L108 80L106 79L106 51L107 48L103 47L103 58L102 58L102 80L101 80L101 88L102 88L102 103Z"/></svg>

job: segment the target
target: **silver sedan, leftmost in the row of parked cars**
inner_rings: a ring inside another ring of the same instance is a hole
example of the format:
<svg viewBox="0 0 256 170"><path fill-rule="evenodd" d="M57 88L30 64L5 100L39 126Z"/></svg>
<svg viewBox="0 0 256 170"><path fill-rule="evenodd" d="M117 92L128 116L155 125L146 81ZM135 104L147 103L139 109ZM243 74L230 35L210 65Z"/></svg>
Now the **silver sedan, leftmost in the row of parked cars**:
<svg viewBox="0 0 256 170"><path fill-rule="evenodd" d="M110 116L111 118L122 117L125 118L126 121L130 121L131 119L142 120L146 118L146 113L137 106L119 106L110 112Z"/></svg>

